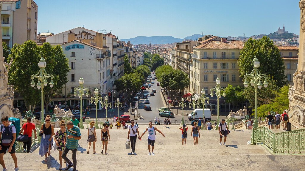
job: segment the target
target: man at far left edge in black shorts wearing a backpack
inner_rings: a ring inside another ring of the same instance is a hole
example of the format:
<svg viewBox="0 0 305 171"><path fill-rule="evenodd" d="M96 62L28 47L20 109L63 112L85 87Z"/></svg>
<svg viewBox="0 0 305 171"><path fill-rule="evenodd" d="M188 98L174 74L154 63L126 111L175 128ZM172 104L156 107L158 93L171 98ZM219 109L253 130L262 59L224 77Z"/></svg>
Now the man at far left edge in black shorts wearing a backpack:
<svg viewBox="0 0 305 171"><path fill-rule="evenodd" d="M2 125L0 126L0 136L1 136L1 143L0 143L0 164L3 167L3 171L6 171L5 163L3 160L3 156L7 152L11 154L15 168L14 171L18 171L19 168L17 166L17 157L15 155L15 140L16 140L16 127L13 124L9 124L9 117L3 116L1 118Z"/></svg>

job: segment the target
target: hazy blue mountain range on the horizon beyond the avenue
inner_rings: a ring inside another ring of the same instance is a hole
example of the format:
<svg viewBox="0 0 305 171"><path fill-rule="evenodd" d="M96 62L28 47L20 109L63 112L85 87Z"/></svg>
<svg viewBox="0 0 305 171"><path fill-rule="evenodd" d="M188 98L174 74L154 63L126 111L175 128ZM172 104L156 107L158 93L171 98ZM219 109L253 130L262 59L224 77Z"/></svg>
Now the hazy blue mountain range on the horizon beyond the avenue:
<svg viewBox="0 0 305 171"><path fill-rule="evenodd" d="M168 44L182 42L183 40L198 40L198 37L202 37L201 34L194 34L192 36L187 36L183 39L175 38L172 36L137 36L131 39L121 39L121 41L128 42L131 44Z"/></svg>

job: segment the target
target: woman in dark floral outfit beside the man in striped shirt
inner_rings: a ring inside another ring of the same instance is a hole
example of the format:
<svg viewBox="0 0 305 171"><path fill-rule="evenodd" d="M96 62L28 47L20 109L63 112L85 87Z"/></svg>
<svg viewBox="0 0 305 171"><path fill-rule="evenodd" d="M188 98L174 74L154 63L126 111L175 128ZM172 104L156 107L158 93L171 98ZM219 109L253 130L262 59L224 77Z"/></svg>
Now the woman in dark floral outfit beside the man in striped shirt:
<svg viewBox="0 0 305 171"><path fill-rule="evenodd" d="M65 121L61 120L59 123L60 130L58 130L55 134L54 141L57 145L57 150L59 152L59 170L63 169L63 159L61 158L61 155L63 154L63 149L65 148L64 141L66 137L66 125Z"/></svg>

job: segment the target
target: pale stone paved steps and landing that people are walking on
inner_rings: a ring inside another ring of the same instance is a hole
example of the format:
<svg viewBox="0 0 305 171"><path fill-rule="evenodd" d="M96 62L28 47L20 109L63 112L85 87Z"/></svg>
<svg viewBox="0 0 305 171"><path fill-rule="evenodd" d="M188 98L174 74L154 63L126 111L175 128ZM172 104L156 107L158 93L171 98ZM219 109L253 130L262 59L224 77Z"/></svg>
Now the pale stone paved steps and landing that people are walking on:
<svg viewBox="0 0 305 171"><path fill-rule="evenodd" d="M139 125L139 132L148 125ZM82 139L77 150L77 170L303 170L304 155L273 155L264 146L247 145L251 136L250 130L231 130L226 142L227 146L219 145L219 134L216 130L201 131L197 146L188 130L187 145L181 145L180 125L156 125L165 138L157 132L154 156L148 156L147 133L142 141L137 140L135 152L129 155L131 149L125 148L128 130L110 130L108 155L101 154L102 142L97 141L96 152L90 148L87 154L87 129L81 130ZM55 129L54 131L56 131ZM100 130L97 130L100 140ZM20 170L58 170L59 153L51 152L48 162L38 155L39 147L31 153L16 153ZM129 154L128 154L129 153ZM69 152L68 158L72 159ZM4 156L8 170L13 169L13 160L9 154ZM63 169L64 170L64 169ZM69 170L72 170L70 168Z"/></svg>

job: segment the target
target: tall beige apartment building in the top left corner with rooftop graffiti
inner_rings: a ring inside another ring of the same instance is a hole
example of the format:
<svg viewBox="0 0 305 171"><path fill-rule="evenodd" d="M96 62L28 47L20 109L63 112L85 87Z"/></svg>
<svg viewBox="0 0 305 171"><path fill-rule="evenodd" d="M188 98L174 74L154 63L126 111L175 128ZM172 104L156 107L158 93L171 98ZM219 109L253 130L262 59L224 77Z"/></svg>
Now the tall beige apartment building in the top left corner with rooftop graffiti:
<svg viewBox="0 0 305 171"><path fill-rule="evenodd" d="M0 0L2 41L10 48L27 40L36 42L38 5L33 0Z"/></svg>

